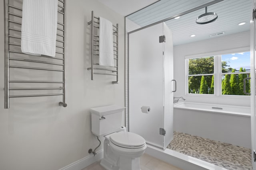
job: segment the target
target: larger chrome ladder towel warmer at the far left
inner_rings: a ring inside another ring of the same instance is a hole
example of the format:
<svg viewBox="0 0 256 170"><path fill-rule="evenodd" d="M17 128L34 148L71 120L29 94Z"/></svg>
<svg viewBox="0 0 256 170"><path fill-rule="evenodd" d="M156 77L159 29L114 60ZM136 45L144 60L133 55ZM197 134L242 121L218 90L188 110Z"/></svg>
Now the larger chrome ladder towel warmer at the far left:
<svg viewBox="0 0 256 170"><path fill-rule="evenodd" d="M58 0L55 57L21 52L21 20L22 1L4 0L4 108L10 107L10 98L59 95L63 96L59 105L66 107L66 0ZM49 77L54 81L46 80Z"/></svg>

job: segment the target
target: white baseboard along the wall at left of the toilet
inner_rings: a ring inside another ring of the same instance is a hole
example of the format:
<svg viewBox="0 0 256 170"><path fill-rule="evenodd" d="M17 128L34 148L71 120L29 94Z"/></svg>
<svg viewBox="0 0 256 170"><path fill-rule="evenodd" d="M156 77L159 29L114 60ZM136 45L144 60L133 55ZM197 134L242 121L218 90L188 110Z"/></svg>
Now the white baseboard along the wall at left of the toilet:
<svg viewBox="0 0 256 170"><path fill-rule="evenodd" d="M89 166L90 164L93 164L94 162L101 160L102 158L103 158L103 149L100 151L97 151L97 154L95 156L91 154L76 162L73 162L72 164L69 164L68 166L61 168L60 170L82 170L85 167Z"/></svg>

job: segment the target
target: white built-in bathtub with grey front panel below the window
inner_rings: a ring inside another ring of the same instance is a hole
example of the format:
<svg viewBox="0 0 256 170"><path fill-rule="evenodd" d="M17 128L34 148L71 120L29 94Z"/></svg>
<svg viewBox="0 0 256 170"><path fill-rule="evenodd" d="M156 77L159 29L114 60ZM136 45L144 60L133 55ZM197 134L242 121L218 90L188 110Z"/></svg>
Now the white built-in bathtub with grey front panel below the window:
<svg viewBox="0 0 256 170"><path fill-rule="evenodd" d="M251 148L250 107L178 102L174 131Z"/></svg>

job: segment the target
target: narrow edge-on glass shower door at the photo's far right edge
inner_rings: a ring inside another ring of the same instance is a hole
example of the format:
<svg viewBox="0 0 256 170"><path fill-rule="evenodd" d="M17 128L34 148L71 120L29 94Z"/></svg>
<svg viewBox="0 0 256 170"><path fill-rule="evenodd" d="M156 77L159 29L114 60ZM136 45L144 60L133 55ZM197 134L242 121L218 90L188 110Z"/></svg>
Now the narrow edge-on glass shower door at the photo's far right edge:
<svg viewBox="0 0 256 170"><path fill-rule="evenodd" d="M256 9L256 2L252 0L252 10ZM251 137L252 137L252 166L256 169L256 86L255 86L255 49L256 49L256 19L250 20L250 74L251 74Z"/></svg>

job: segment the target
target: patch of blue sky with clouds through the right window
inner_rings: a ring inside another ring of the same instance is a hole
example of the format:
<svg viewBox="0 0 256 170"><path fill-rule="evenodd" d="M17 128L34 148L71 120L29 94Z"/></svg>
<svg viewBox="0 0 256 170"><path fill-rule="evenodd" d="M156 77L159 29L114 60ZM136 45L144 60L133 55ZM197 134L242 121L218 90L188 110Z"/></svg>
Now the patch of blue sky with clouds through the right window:
<svg viewBox="0 0 256 170"><path fill-rule="evenodd" d="M240 67L250 69L250 52L222 55L222 61L226 61L230 67L239 70Z"/></svg>

